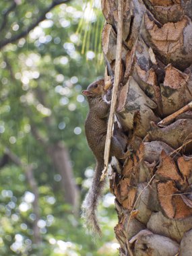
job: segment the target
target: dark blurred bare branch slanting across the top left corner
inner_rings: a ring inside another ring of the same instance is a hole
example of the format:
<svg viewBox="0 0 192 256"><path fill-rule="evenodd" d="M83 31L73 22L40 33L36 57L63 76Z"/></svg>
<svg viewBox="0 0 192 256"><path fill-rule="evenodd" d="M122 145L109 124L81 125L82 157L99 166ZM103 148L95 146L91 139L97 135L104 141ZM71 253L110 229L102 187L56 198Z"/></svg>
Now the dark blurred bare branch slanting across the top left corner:
<svg viewBox="0 0 192 256"><path fill-rule="evenodd" d="M31 30L33 30L36 26L38 26L38 24L40 22L42 22L43 20L46 19L45 15L46 13L48 13L49 11L51 11L51 9L53 9L53 7L60 5L61 3L67 3L71 0L53 0L53 2L51 3L51 5L49 5L49 7L47 7L46 9L44 9L41 13L41 15L38 17L38 19L36 20L36 22L34 22L33 24L31 24L30 26L28 26L27 28L25 28L22 32L20 32L19 34L16 34L15 36L11 36L11 38L7 38L5 40L0 41L0 49L2 49L5 45L15 42L17 40L19 40L20 38L26 36Z"/></svg>

